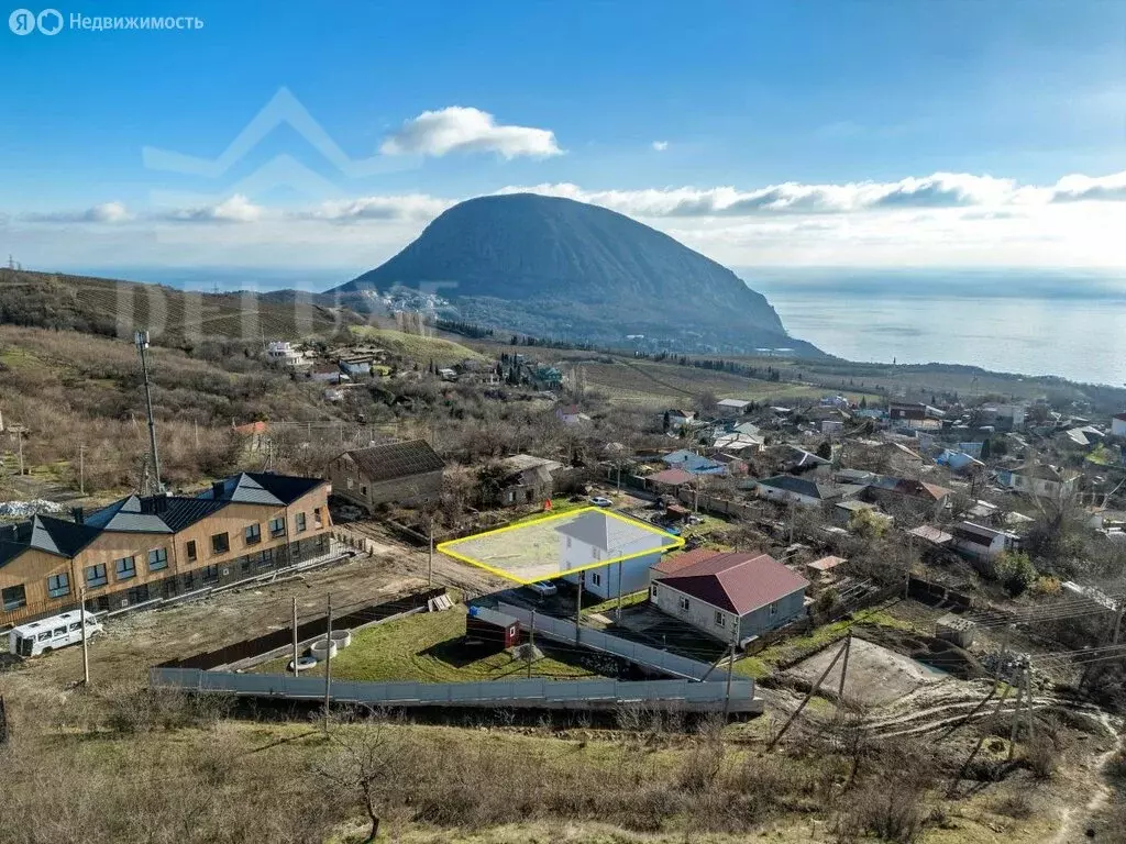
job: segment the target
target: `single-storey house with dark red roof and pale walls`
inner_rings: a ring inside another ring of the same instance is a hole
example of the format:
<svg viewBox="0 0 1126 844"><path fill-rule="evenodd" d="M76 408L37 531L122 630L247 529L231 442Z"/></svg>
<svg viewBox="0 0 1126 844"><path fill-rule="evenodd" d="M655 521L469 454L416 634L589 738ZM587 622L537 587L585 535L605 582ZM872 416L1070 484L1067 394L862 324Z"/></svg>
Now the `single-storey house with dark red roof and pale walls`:
<svg viewBox="0 0 1126 844"><path fill-rule="evenodd" d="M703 634L743 643L805 612L810 582L762 551L697 548L650 569L650 601Z"/></svg>

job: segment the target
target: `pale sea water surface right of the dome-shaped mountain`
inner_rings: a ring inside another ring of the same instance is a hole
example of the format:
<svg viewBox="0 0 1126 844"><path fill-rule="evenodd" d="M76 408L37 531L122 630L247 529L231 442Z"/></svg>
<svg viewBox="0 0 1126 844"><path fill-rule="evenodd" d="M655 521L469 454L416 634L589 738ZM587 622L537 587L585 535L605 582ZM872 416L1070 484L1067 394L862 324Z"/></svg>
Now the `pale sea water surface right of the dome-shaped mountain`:
<svg viewBox="0 0 1126 844"><path fill-rule="evenodd" d="M1126 384L1126 273L762 270L786 330L849 360Z"/></svg>

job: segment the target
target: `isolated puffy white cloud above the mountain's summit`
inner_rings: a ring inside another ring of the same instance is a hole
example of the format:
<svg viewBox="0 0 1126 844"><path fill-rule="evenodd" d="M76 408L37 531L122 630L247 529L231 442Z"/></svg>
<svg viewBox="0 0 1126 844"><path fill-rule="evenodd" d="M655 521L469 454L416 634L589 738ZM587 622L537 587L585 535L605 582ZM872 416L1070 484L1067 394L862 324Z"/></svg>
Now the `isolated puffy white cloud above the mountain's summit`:
<svg viewBox="0 0 1126 844"><path fill-rule="evenodd" d="M423 111L403 123L379 150L386 155L435 156L452 152L494 152L504 159L563 153L555 142L555 133L549 129L498 125L488 111L463 106Z"/></svg>

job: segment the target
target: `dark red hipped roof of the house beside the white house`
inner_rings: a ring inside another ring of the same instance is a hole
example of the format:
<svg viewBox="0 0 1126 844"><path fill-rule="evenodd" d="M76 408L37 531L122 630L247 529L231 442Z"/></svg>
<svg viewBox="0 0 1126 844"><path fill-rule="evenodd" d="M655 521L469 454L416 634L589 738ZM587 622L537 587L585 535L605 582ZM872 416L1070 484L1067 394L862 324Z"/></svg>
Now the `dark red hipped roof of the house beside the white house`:
<svg viewBox="0 0 1126 844"><path fill-rule="evenodd" d="M761 551L712 551L660 581L686 595L739 616L810 585L799 574Z"/></svg>

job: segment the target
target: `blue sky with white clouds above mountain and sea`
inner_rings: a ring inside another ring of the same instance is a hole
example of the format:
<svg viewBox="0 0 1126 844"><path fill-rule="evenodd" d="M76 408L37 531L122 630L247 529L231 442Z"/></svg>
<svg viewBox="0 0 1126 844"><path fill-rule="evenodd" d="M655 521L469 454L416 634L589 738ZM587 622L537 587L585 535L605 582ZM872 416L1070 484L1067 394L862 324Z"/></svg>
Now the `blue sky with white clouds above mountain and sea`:
<svg viewBox="0 0 1126 844"><path fill-rule="evenodd" d="M348 275L521 190L735 267L1126 268L1119 0L57 11L0 29L28 268Z"/></svg>

